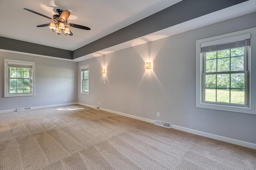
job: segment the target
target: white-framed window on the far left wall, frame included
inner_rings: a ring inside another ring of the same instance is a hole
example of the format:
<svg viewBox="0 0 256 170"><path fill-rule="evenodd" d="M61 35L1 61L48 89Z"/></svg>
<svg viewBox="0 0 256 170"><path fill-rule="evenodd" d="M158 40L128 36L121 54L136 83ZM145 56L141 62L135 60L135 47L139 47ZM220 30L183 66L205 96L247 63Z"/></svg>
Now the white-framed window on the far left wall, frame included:
<svg viewBox="0 0 256 170"><path fill-rule="evenodd" d="M4 97L34 96L34 62L4 60Z"/></svg>

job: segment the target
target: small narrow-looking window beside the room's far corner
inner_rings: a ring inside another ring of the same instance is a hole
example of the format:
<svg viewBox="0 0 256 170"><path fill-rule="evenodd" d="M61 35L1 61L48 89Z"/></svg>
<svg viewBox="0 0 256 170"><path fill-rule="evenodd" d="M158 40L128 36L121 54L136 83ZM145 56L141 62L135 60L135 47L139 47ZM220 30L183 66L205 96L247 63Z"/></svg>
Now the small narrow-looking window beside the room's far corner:
<svg viewBox="0 0 256 170"><path fill-rule="evenodd" d="M81 66L81 94L89 94L89 65Z"/></svg>

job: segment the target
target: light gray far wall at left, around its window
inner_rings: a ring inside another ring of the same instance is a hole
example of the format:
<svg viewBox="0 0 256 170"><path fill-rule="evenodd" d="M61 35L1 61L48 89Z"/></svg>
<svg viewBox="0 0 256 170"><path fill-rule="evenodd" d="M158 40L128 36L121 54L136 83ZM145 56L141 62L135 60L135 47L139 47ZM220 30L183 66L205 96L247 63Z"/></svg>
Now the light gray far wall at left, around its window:
<svg viewBox="0 0 256 170"><path fill-rule="evenodd" d="M4 98L4 59L35 62L35 96ZM75 62L0 51L0 111L77 102L76 70Z"/></svg>

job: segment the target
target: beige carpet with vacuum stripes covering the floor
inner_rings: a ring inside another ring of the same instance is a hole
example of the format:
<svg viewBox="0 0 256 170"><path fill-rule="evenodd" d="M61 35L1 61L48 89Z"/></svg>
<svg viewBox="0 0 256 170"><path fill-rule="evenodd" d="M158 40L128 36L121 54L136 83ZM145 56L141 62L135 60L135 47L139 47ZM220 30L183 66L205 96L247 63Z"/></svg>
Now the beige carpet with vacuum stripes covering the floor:
<svg viewBox="0 0 256 170"><path fill-rule="evenodd" d="M0 114L1 170L255 170L256 150L80 105Z"/></svg>

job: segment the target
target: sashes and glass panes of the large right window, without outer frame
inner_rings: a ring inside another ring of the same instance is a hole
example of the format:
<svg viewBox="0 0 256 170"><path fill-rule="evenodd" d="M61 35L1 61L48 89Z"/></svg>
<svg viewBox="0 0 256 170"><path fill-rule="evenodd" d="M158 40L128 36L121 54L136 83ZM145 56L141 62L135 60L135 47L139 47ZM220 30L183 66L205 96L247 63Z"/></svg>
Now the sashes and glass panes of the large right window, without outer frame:
<svg viewBox="0 0 256 170"><path fill-rule="evenodd" d="M201 49L203 103L249 107L247 59L250 39L244 42L241 48L206 53Z"/></svg>

